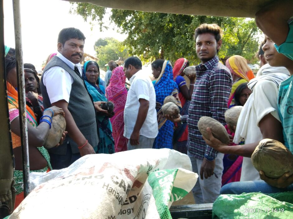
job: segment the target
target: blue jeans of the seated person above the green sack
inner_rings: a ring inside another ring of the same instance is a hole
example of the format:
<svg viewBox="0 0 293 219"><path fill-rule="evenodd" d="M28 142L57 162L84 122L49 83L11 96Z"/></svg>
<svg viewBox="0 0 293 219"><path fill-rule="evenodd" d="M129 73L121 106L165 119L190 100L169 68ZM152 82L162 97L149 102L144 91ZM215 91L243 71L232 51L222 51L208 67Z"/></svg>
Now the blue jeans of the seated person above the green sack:
<svg viewBox="0 0 293 219"><path fill-rule="evenodd" d="M243 182L232 182L224 185L221 190L220 194L235 194L239 195L243 192L250 193L250 192L261 192L261 193L277 193L277 192L290 192L293 191L293 184L287 186L284 189L280 189L277 187L273 187L267 184L263 180L258 181L243 181Z"/></svg>

